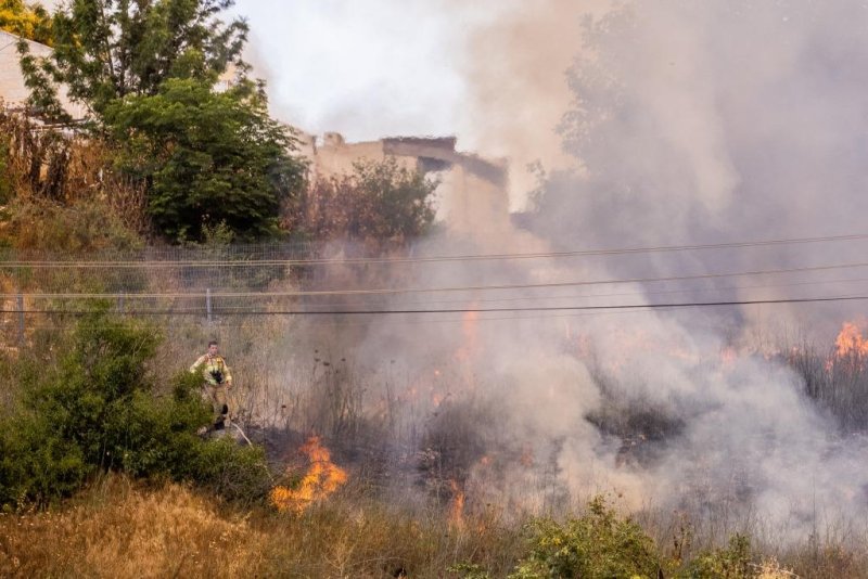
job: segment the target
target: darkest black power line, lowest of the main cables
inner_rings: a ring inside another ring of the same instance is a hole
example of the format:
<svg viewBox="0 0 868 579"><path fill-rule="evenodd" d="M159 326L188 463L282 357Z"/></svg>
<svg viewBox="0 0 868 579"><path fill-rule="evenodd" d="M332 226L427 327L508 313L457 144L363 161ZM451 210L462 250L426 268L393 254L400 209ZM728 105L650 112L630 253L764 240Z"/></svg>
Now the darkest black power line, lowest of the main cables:
<svg viewBox="0 0 868 579"><path fill-rule="evenodd" d="M485 312L519 312L519 311L605 311L605 310L655 310L655 309L676 309L676 308L704 308L723 306L758 306L778 304L815 304L831 301L860 301L868 300L868 296L832 296L832 297L805 297L805 298L781 298L781 299L733 299L725 301L682 301L669 304L620 304L610 306L528 306L522 308L448 308L448 309L404 309L404 310L329 310L329 311L307 311L307 310L248 310L248 311L219 311L215 310L213 316L388 316L388 314L416 314L416 313L485 313ZM65 314L65 316L88 316L98 310L16 310L3 309L0 313L33 313L33 314ZM129 316L187 316L203 314L203 309L178 309L178 310L125 310Z"/></svg>

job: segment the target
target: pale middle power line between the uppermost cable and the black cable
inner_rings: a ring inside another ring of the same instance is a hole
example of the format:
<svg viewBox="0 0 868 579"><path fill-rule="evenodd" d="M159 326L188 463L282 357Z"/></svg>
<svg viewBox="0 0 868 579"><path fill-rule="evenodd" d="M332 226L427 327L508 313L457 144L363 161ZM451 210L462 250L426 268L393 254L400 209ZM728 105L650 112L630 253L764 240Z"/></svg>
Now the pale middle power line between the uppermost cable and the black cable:
<svg viewBox="0 0 868 579"><path fill-rule="evenodd" d="M737 271L728 273L700 273L693 275L667 275L662 278L628 278L623 280L588 280L572 282L522 283L522 284L495 284L495 285L464 285L444 287L401 287L401 288L371 288L371 290L311 290L286 292L212 292L212 298L239 298L239 297L302 297L302 296L340 296L340 295L396 295L396 294L431 294L446 292L486 292L507 290L540 290L551 287L575 287L589 285L616 285L631 283L659 283L689 280L711 280L719 278L744 278L754 275L778 275L783 273L804 273L815 271L831 271L837 269L854 269L868 267L868 262L838 263L831 266L812 266L800 268L779 268L769 270ZM0 298L11 299L20 294L0 294ZM29 298L37 299L108 299L108 298L201 298L204 293L39 293L26 294Z"/></svg>

